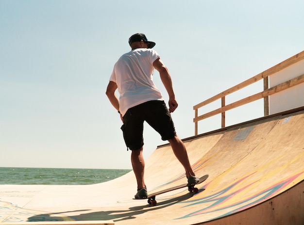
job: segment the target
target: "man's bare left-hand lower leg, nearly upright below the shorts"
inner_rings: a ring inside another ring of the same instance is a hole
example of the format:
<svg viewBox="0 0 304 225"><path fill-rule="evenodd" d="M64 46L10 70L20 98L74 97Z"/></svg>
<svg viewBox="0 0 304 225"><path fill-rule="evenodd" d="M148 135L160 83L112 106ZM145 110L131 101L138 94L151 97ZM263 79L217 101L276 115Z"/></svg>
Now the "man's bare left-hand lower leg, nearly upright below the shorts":
<svg viewBox="0 0 304 225"><path fill-rule="evenodd" d="M131 153L131 162L137 181L137 189L146 188L144 181L145 161L142 154L143 147L133 150Z"/></svg>

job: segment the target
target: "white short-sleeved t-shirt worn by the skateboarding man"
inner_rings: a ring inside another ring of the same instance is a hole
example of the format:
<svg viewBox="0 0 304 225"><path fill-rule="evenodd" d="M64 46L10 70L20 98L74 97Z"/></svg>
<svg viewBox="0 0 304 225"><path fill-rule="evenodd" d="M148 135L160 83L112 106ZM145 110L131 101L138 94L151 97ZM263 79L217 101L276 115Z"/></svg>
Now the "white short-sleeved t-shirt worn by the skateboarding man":
<svg viewBox="0 0 304 225"><path fill-rule="evenodd" d="M135 48L123 54L114 65L110 81L117 83L122 115L141 103L163 100L153 82L152 64L158 58L157 52L151 48Z"/></svg>

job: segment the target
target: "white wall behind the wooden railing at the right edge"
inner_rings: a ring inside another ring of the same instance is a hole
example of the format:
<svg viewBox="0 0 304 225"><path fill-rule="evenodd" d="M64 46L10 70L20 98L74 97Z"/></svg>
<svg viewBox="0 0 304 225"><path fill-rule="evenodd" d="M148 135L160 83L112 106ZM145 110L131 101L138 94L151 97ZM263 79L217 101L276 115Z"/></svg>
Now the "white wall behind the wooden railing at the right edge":
<svg viewBox="0 0 304 225"><path fill-rule="evenodd" d="M270 88L302 74L304 74L304 60L271 75ZM304 106L304 83L271 95L269 104L270 114Z"/></svg>

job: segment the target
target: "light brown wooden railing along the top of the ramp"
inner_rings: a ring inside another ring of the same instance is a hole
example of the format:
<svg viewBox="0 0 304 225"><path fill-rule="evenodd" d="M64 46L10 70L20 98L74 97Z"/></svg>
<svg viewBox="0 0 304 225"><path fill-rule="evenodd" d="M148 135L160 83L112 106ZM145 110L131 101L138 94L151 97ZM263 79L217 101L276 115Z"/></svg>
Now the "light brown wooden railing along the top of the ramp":
<svg viewBox="0 0 304 225"><path fill-rule="evenodd" d="M195 106L193 106L193 110L195 111L195 117L193 118L193 122L195 123L195 135L198 134L198 121L200 120L203 120L205 118L208 118L208 117L211 117L211 116L214 116L214 115L217 115L219 113L221 113L221 127L224 128L225 127L225 112L228 111L228 110L231 110L231 109L234 109L236 107L239 107L239 106L242 106L242 105L245 105L245 104L248 104L250 102L253 102L253 101L256 101L258 99L261 99L261 98L264 98L264 115L269 115L269 96L270 95L273 95L275 93L278 93L280 91L283 91L283 90L286 90L290 87L293 87L295 85L298 85L300 83L303 83L304 82L304 74L303 75L300 75L296 78L293 78L291 80L287 80L279 85L276 85L274 87L271 87L269 88L269 77L292 65L292 64L295 64L301 60L304 59L304 51L300 52L299 54L296 54L292 57L290 57L289 59L283 61L282 63L280 64L277 64L273 67L271 67L270 69L268 70L265 70L264 72L248 79L248 80L245 80L244 82L241 82L239 84L237 84L236 86L232 87L232 88L229 88L227 89L226 91L216 95L216 96L213 96ZM262 92L259 92L255 95L252 95L252 96L248 96L248 97L245 97L241 100L238 100L236 102L233 102L229 105L225 105L225 97L231 93L234 93L244 87L247 87L248 85L250 84L253 84L255 83L256 81L258 80L264 80L264 91ZM207 112L203 115L198 115L198 110L199 108L211 103L211 102L214 102L218 99L221 98L221 107L217 110L214 110L214 111L211 111L211 112Z"/></svg>

